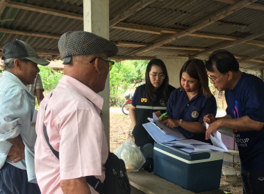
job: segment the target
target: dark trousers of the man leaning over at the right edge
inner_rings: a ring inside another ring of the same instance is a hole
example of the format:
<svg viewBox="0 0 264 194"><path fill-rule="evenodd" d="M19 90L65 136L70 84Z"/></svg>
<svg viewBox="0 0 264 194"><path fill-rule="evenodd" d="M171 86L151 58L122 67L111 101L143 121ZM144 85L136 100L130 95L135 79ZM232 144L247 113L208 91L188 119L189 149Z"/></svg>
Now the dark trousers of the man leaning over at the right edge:
<svg viewBox="0 0 264 194"><path fill-rule="evenodd" d="M241 168L243 194L263 194L264 171L247 172Z"/></svg>

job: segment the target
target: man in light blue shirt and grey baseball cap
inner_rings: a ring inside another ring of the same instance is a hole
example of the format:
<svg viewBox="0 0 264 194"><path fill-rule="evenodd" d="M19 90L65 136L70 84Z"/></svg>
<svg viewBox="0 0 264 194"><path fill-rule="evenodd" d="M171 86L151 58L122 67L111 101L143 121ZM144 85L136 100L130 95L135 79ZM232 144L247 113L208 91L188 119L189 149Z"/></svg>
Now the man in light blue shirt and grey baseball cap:
<svg viewBox="0 0 264 194"><path fill-rule="evenodd" d="M14 40L3 46L0 77L0 193L40 193L35 179L35 123L31 123L35 96L33 84L38 64L47 65L26 42Z"/></svg>

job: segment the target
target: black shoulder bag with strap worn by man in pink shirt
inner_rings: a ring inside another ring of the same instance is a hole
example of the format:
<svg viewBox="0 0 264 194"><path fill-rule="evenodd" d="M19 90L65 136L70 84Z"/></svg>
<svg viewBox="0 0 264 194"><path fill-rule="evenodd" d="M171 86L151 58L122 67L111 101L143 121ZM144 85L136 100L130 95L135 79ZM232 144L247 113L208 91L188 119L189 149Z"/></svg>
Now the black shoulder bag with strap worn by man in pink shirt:
<svg viewBox="0 0 264 194"><path fill-rule="evenodd" d="M54 150L49 143L47 128L44 124L43 133L49 148L59 159L59 152ZM88 182L88 184L90 184L100 194L130 194L131 188L129 184L129 177L126 174L124 161L119 159L114 153L109 152L105 167L106 179L104 179L104 183L101 183L101 181L94 176L85 177L86 182Z"/></svg>

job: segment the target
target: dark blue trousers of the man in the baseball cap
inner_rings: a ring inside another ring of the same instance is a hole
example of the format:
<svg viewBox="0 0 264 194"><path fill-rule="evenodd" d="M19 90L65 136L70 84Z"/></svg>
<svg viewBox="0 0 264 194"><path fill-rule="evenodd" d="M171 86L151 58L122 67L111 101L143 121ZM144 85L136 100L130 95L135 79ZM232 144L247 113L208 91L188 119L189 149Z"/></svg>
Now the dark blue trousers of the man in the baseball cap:
<svg viewBox="0 0 264 194"><path fill-rule="evenodd" d="M38 184L28 182L26 170L5 163L0 169L0 194L38 194Z"/></svg>

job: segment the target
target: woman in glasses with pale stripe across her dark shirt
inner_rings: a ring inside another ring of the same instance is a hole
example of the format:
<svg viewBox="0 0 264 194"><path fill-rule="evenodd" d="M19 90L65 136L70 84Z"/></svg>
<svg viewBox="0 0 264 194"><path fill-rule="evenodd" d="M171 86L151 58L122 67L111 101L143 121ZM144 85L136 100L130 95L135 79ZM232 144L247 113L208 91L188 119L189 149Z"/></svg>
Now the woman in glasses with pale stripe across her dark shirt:
<svg viewBox="0 0 264 194"><path fill-rule="evenodd" d="M135 144L140 146L140 150L146 157L146 164L143 168L151 172L154 140L142 124L149 122L147 117L152 118L153 112L164 113L166 111L167 100L175 87L169 85L167 69L164 62L159 59L153 59L147 64L145 82L145 85L140 85L135 89L132 104L129 107L129 116L133 125L132 133Z"/></svg>

